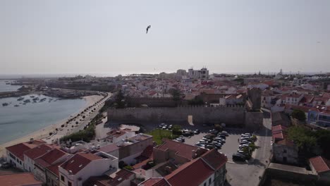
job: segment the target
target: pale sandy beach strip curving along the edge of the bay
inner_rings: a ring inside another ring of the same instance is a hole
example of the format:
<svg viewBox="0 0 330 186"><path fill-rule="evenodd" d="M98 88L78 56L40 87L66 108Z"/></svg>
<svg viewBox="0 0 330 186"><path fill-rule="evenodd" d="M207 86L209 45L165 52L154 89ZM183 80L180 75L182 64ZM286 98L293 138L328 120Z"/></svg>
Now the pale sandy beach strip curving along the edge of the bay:
<svg viewBox="0 0 330 186"><path fill-rule="evenodd" d="M87 109L89 106L92 106L93 104L95 104L97 101L99 101L102 98L103 98L102 96L97 96L97 95L82 97L82 99L85 99L85 101L86 101L85 106L83 106L79 111L77 111L75 113L71 113L71 116L76 116L78 113L80 113L81 111ZM55 132L56 128L60 129L61 125L66 124L66 121L68 119L72 118L71 116L59 121L58 123L55 123L55 124L49 125L45 128L42 128L40 130L37 130L37 131L31 133L30 135L26 135L26 136L20 137L16 140L12 140L11 142L6 142L4 144L1 144L0 145L0 157L4 156L4 154L6 154L6 150L5 150L6 147L9 147L9 146L12 146L14 144L21 143L21 142L28 142L30 140L30 138L33 138L35 140L39 140L39 139L46 140L46 138L49 138L49 133L50 132ZM66 131L66 132L64 132L64 131ZM60 136L68 134L67 131L70 132L70 130L68 130L68 126L63 128L63 132L62 131L60 132L60 130L59 130L59 132L61 133ZM49 138L49 140L50 140L50 138Z"/></svg>

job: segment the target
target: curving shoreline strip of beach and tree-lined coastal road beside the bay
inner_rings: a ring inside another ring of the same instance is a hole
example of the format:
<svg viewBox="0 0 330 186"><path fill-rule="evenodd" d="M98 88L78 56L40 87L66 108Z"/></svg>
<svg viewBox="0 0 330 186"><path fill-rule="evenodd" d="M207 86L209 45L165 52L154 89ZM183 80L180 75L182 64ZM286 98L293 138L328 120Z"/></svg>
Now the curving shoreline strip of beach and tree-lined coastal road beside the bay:
<svg viewBox="0 0 330 186"><path fill-rule="evenodd" d="M111 97L110 93L108 94L108 97ZM106 100L108 97L106 97L104 100ZM64 120L61 120L59 123L49 125L45 128L42 128L41 130L37 130L36 132L31 133L30 135L26 135L26 136L20 137L16 140L12 140L11 142L6 142L4 144L1 144L0 145L0 157L5 156L6 147L9 147L9 146L12 146L13 144L18 144L21 142L28 142L30 140L30 138L33 138L35 140L42 139L42 140L45 140L46 142L51 143L65 135L82 130L85 127L85 125L87 125L87 123L90 122L90 119L94 118L94 116L97 115L99 109L102 108L104 101L100 101L99 104L97 104L97 101L101 100L102 98L104 98L104 97L99 96L99 95L83 97L83 99L86 100L86 105L83 106L82 109L80 109L76 113L72 113L70 117L68 117ZM91 108L88 109L90 106L91 106ZM71 123L66 124L66 122L69 119L73 118L74 116L76 116L78 113L81 113L85 109L88 109L88 113L85 114L86 118L82 119L82 116L79 116L78 118L76 118L76 120L78 121L78 125L75 124L75 122L73 123L73 121ZM89 112L92 110L93 110L93 112L91 112L89 114ZM61 125L64 125L64 127L62 128ZM75 125L75 126L72 127L73 125ZM56 128L58 129L57 132L56 132ZM50 132L52 132L53 135L49 136ZM56 133L56 134L54 135L54 133Z"/></svg>

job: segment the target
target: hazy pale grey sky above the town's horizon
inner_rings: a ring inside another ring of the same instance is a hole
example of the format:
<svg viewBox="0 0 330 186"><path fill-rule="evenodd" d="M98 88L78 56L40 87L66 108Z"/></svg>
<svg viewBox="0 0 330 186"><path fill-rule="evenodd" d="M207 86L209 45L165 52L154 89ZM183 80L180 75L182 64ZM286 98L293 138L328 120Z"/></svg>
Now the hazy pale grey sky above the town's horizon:
<svg viewBox="0 0 330 186"><path fill-rule="evenodd" d="M330 1L0 0L0 64L0 74L326 72Z"/></svg>

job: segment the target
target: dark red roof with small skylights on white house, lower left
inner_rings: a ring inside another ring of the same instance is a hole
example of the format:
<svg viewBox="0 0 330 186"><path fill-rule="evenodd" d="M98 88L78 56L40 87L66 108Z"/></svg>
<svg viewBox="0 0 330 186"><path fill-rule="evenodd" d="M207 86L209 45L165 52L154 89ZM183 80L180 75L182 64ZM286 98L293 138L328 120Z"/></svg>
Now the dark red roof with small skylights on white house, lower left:
<svg viewBox="0 0 330 186"><path fill-rule="evenodd" d="M61 168L63 168L66 171L72 171L72 174L75 175L79 171L82 170L82 168L85 168L85 166L88 165L93 160L102 159L100 156L97 156L92 153L78 153L75 154L71 159L68 159L68 161L61 164Z"/></svg>

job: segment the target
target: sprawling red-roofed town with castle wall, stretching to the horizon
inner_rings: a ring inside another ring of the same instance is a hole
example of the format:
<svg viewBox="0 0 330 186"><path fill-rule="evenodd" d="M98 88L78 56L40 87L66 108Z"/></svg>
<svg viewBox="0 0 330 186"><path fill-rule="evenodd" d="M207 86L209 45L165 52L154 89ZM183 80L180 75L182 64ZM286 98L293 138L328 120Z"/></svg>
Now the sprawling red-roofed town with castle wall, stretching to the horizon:
<svg viewBox="0 0 330 186"><path fill-rule="evenodd" d="M6 147L1 185L330 185L330 73L203 67L13 84L109 98L77 133Z"/></svg>

